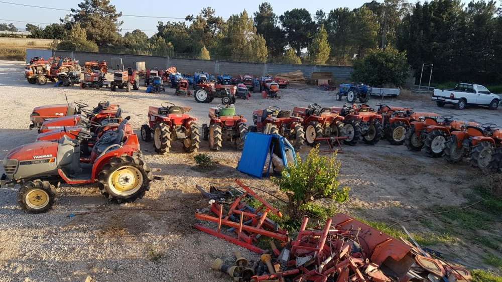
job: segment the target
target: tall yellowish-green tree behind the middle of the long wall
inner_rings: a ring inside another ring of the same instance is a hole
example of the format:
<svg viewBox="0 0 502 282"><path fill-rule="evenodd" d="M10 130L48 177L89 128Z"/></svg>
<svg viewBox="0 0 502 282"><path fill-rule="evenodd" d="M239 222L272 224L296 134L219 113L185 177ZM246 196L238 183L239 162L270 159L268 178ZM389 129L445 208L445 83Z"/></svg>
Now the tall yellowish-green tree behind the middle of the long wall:
<svg viewBox="0 0 502 282"><path fill-rule="evenodd" d="M234 60L264 63L268 51L263 36L257 34L253 19L244 10L228 19L228 32L224 40Z"/></svg>

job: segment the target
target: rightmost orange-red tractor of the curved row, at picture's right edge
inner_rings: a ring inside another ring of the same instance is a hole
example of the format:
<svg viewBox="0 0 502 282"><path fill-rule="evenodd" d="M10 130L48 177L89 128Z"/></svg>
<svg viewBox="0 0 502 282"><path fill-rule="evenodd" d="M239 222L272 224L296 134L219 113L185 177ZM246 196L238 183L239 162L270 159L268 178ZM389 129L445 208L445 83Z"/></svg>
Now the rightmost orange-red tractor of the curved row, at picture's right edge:
<svg viewBox="0 0 502 282"><path fill-rule="evenodd" d="M458 163L470 157L470 164L486 171L490 167L497 148L502 146L502 129L496 124L484 123L481 127L464 125L454 131L446 143L444 158L449 163Z"/></svg>

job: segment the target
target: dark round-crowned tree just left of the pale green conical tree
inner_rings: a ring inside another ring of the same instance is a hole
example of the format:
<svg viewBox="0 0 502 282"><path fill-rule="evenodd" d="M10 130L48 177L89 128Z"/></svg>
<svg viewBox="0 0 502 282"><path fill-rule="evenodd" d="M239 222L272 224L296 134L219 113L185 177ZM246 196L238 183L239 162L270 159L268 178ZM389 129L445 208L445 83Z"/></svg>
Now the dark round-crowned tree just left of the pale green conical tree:
<svg viewBox="0 0 502 282"><path fill-rule="evenodd" d="M302 49L308 46L315 31L315 23L309 11L306 9L286 11L279 20L286 33L288 44L296 50L298 56L301 56Z"/></svg>

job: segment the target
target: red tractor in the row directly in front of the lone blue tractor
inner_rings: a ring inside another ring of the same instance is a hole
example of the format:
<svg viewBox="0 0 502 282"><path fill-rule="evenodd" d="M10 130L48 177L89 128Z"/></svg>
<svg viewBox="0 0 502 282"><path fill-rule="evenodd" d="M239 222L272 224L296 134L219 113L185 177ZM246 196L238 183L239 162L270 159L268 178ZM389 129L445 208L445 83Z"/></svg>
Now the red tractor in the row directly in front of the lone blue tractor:
<svg viewBox="0 0 502 282"><path fill-rule="evenodd" d="M344 118L343 127L347 138L343 140L343 143L354 146L362 137L365 144L375 145L382 138L382 115L367 105L358 107L345 103L343 107L332 107L331 112Z"/></svg>

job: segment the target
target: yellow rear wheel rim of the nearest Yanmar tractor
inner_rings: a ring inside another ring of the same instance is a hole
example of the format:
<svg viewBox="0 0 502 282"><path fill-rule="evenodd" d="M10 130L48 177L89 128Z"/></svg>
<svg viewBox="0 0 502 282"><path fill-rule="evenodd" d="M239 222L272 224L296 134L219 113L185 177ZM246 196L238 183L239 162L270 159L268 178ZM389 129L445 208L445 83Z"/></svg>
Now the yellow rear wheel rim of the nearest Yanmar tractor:
<svg viewBox="0 0 502 282"><path fill-rule="evenodd" d="M130 196L138 192L143 185L143 174L135 167L121 167L110 175L108 184L113 193Z"/></svg>

